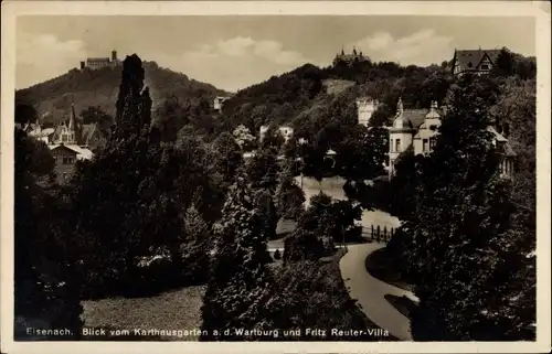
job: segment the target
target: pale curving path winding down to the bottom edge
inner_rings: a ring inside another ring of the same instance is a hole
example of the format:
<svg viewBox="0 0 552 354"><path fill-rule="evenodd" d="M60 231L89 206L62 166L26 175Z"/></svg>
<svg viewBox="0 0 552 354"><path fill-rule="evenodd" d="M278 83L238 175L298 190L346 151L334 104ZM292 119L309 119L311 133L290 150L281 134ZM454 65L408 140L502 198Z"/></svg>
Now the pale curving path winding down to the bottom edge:
<svg viewBox="0 0 552 354"><path fill-rule="evenodd" d="M349 251L339 261L341 277L351 298L358 300L357 304L360 304L362 312L372 322L400 340L412 341L410 320L389 303L384 296L406 296L414 301L417 298L411 291L375 279L365 268L367 256L382 247L385 245L378 243L349 246Z"/></svg>

